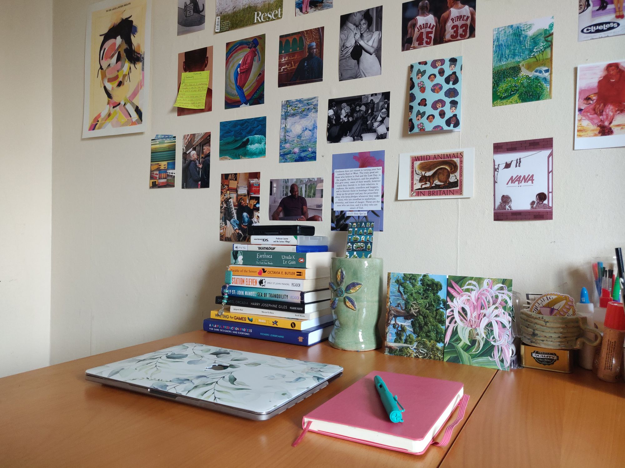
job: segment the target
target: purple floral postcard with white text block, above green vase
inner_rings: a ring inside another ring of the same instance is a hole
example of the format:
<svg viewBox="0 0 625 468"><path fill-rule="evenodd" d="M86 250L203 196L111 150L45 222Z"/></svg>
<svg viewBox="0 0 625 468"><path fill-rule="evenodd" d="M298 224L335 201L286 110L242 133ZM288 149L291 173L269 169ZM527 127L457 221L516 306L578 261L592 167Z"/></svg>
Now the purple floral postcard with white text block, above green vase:
<svg viewBox="0 0 625 468"><path fill-rule="evenodd" d="M351 222L384 230L384 151L332 155L332 231Z"/></svg>

